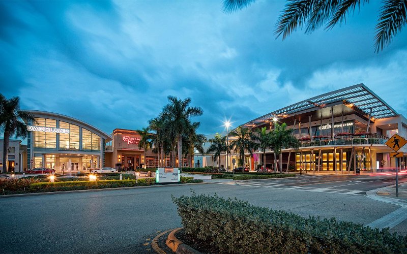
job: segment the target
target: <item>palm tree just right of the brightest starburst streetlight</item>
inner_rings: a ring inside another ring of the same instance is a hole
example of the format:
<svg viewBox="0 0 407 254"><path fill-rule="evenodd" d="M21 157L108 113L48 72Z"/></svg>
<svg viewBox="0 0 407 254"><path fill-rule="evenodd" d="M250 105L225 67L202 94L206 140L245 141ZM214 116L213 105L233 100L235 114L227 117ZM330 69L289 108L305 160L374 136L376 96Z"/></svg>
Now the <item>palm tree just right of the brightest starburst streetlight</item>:
<svg viewBox="0 0 407 254"><path fill-rule="evenodd" d="M230 150L236 150L239 152L239 166L244 166L243 162L245 159L245 150L247 150L250 155L253 155L253 149L256 147L255 135L251 129L243 128L239 126L235 130L229 132L229 137L235 137L234 140L231 140Z"/></svg>

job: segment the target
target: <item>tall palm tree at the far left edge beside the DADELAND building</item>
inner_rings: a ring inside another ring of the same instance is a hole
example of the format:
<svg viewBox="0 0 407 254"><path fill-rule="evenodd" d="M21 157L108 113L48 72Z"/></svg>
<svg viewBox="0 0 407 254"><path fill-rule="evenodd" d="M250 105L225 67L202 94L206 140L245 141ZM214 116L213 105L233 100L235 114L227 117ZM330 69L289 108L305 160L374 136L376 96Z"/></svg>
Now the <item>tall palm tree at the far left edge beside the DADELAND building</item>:
<svg viewBox="0 0 407 254"><path fill-rule="evenodd" d="M20 110L20 98L7 99L0 93L0 129L4 132L3 146L3 172L8 171L9 139L27 136L27 125L25 122L35 122L34 115Z"/></svg>

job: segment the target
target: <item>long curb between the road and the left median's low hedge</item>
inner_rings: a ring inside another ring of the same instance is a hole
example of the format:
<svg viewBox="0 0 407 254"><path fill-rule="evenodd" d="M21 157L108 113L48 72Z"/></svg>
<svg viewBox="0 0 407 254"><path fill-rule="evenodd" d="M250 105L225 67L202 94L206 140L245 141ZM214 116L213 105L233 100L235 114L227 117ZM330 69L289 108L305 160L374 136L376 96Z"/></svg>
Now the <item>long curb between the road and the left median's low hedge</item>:
<svg viewBox="0 0 407 254"><path fill-rule="evenodd" d="M210 182L175 183L175 184L153 184L153 185L148 185L148 186L134 186L134 187L65 190L64 192L39 192L39 193L11 194L11 195L0 195L0 199L2 199L2 198L15 198L15 197L28 197L28 196L41 196L41 195L82 193L82 192L103 192L104 190L122 190L122 189L134 189L134 188L149 188L149 187L169 187L169 186L174 186L174 185L207 184L207 183L210 183Z"/></svg>

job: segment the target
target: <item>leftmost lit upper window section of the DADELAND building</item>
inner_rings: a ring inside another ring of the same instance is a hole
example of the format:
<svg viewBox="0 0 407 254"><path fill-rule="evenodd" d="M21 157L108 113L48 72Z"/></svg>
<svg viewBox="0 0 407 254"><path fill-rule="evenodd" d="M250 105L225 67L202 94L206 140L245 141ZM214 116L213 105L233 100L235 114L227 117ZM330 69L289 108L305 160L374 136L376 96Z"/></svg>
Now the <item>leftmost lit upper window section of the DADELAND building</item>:
<svg viewBox="0 0 407 254"><path fill-rule="evenodd" d="M56 120L48 118L35 118L37 126L56 128ZM34 132L34 147L35 148L56 148L56 133L49 132Z"/></svg>

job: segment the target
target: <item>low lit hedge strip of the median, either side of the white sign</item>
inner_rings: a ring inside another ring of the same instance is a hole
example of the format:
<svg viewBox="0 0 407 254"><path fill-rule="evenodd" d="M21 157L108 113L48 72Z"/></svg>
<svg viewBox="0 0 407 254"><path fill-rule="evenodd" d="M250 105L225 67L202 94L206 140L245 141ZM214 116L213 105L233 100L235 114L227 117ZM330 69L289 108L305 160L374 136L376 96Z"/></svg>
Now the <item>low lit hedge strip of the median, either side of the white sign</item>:
<svg viewBox="0 0 407 254"><path fill-rule="evenodd" d="M181 183L196 183L202 180L194 180L193 177L181 176ZM0 179L0 190L3 195L64 192L67 190L104 189L148 186L156 184L155 178L128 179L128 180L98 180L98 181L55 181L39 182L39 179Z"/></svg>

